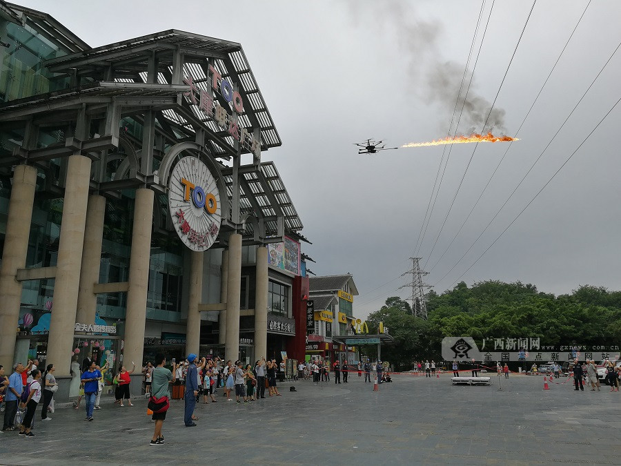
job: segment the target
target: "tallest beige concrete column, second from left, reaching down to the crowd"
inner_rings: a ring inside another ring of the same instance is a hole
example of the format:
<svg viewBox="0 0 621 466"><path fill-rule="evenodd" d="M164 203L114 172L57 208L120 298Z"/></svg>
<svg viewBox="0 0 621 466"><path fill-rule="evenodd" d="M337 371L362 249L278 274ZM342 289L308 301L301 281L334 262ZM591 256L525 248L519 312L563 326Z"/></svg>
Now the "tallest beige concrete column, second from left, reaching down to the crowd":
<svg viewBox="0 0 621 466"><path fill-rule="evenodd" d="M54 284L54 309L48 336L47 363L56 366L54 375L57 377L68 377L71 364L89 182L90 159L70 155Z"/></svg>

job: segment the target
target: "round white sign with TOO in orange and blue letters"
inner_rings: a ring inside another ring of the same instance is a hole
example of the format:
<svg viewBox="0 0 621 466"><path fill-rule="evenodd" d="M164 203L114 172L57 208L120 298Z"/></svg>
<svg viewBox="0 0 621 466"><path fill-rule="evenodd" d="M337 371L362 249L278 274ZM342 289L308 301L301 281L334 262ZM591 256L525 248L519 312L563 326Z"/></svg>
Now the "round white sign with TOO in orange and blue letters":
<svg viewBox="0 0 621 466"><path fill-rule="evenodd" d="M220 193L197 157L184 157L172 169L168 208L177 234L192 251L206 251L215 242L222 220Z"/></svg>

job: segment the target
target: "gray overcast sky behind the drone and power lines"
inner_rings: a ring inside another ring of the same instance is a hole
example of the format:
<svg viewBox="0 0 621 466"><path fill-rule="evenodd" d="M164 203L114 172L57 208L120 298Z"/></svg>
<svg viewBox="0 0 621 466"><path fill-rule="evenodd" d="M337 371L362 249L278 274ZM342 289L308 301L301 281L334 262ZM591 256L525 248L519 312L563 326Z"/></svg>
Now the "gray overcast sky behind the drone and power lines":
<svg viewBox="0 0 621 466"><path fill-rule="evenodd" d="M482 1L34 1L97 47L177 28L242 43L283 145L273 159L313 242L317 275L351 272L356 315L379 309L411 266L443 146L357 155L368 137L388 146L444 137ZM491 1L485 4L478 50ZM515 136L586 0L538 1L494 106L495 132ZM531 1L496 1L460 131L484 120ZM621 97L621 50L495 222L469 248L544 151L621 41L621 2L593 0L537 104L473 215L426 278L441 293L479 257ZM473 68L474 58L469 66ZM470 108L470 107L469 107ZM504 114L502 111L504 110ZM478 110L478 113L477 113ZM619 289L621 104L500 240L462 278L522 280L569 293L579 284ZM479 124L480 126L480 124ZM504 130L503 130L504 128ZM464 222L508 145L453 146L422 242L424 264L473 155L430 270ZM446 148L448 153L449 147ZM445 155L446 155L445 153ZM441 280L442 279L442 280Z"/></svg>

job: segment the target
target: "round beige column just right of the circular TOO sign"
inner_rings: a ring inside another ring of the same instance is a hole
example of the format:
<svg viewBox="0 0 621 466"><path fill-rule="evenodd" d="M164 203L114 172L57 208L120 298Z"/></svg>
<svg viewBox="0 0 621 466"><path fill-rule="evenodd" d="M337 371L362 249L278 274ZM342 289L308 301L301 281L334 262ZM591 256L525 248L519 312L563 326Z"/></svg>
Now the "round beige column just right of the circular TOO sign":
<svg viewBox="0 0 621 466"><path fill-rule="evenodd" d="M242 289L242 235L228 238L228 273L226 274L226 335L224 358L239 359L239 293Z"/></svg>

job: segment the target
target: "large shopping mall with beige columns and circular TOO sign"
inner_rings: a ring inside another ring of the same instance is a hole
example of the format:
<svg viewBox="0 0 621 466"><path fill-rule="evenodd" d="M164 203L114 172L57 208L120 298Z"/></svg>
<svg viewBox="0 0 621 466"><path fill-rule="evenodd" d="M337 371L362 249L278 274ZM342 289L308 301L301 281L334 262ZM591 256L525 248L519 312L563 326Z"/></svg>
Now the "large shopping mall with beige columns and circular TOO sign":
<svg viewBox="0 0 621 466"><path fill-rule="evenodd" d="M239 43L91 48L0 0L0 364L304 359L300 222ZM110 371L112 372L112 371Z"/></svg>

